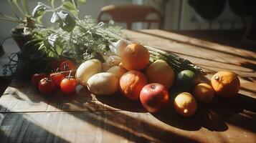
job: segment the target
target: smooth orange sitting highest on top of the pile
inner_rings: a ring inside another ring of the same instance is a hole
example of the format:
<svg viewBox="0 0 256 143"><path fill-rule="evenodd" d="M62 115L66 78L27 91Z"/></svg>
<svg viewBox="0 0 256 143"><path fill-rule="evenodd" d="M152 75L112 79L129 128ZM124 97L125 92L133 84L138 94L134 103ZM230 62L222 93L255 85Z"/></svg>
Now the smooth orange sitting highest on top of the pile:
<svg viewBox="0 0 256 143"><path fill-rule="evenodd" d="M128 70L145 69L149 63L148 49L141 44L129 44L120 57L123 67Z"/></svg>

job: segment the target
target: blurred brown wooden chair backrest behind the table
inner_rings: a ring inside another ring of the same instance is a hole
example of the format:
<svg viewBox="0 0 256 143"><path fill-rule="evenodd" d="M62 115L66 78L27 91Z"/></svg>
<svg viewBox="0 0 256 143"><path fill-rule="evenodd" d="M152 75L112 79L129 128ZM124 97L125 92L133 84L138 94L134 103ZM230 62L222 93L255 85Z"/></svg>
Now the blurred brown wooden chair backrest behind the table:
<svg viewBox="0 0 256 143"><path fill-rule="evenodd" d="M102 20L103 14L110 14L113 21L124 22L127 24L127 29L131 29L131 25L134 22L146 22L148 23L148 29L151 27L151 23L157 23L158 28L161 27L161 12L152 8L151 6L141 5L109 5L100 9L98 21L107 22L109 20ZM157 19L147 19L148 14L156 14Z"/></svg>

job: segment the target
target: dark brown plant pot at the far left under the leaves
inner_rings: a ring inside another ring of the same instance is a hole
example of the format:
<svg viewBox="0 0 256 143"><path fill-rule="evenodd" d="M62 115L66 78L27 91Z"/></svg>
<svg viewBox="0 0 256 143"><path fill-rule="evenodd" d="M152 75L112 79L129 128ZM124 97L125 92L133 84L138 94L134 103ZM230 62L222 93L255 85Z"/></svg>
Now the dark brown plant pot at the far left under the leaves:
<svg viewBox="0 0 256 143"><path fill-rule="evenodd" d="M11 36L16 41L16 44L19 46L19 49L22 50L24 44L27 43L27 41L31 40L31 36L26 36L23 34L24 27L19 26L11 29Z"/></svg>

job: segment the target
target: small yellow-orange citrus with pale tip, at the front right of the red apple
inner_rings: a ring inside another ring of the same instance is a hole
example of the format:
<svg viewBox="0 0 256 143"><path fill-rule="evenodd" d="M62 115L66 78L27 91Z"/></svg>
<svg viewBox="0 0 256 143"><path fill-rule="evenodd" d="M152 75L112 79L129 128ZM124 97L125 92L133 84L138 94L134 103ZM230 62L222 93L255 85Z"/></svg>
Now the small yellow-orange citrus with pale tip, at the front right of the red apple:
<svg viewBox="0 0 256 143"><path fill-rule="evenodd" d="M189 92L182 92L174 99L174 109L181 116L189 117L196 112L196 99Z"/></svg>

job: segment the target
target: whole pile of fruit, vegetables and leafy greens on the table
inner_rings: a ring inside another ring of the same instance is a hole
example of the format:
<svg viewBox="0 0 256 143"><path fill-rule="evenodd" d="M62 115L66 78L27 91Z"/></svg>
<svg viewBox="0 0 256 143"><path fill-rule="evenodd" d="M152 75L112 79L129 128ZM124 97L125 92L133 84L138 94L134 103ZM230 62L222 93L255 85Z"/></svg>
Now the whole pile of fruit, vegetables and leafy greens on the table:
<svg viewBox="0 0 256 143"><path fill-rule="evenodd" d="M6 72L31 78L42 94L61 90L63 96L70 96L82 85L106 98L120 92L140 100L148 112L172 104L188 117L196 112L197 102L234 97L240 89L237 75L230 71L219 71L210 83L202 83L200 77L206 73L191 61L128 41L112 21L97 24L90 16L79 19L75 1L64 1L58 8L51 2L52 6L38 3L31 16L21 21L31 39L17 53L16 64L11 60L5 65ZM57 24L54 29L37 23L47 12L52 12L51 22ZM171 94L175 90L179 92ZM170 97L175 97L173 103Z"/></svg>

